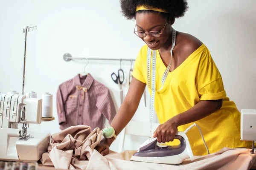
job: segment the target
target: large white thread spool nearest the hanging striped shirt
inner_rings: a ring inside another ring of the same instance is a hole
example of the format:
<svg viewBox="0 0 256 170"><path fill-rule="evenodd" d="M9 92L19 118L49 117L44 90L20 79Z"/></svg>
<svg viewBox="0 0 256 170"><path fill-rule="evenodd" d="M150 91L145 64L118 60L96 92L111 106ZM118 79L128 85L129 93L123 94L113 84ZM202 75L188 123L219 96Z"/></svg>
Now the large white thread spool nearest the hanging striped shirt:
<svg viewBox="0 0 256 170"><path fill-rule="evenodd" d="M52 117L52 94L42 94L42 117Z"/></svg>

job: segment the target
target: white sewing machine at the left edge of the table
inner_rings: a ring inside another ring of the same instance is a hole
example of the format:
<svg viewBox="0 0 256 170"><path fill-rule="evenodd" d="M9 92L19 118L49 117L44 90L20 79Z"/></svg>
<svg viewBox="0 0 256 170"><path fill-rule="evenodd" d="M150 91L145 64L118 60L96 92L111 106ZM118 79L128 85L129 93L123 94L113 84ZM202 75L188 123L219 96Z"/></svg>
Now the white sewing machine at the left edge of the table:
<svg viewBox="0 0 256 170"><path fill-rule="evenodd" d="M0 94L0 160L38 161L47 152L50 133L27 131L27 125L42 122L42 99L29 96Z"/></svg>

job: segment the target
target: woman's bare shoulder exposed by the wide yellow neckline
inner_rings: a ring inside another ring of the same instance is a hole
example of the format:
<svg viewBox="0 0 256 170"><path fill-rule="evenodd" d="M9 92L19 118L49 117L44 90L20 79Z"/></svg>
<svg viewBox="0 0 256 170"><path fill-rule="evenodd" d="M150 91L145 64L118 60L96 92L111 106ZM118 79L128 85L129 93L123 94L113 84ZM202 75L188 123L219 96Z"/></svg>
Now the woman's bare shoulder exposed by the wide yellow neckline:
<svg viewBox="0 0 256 170"><path fill-rule="evenodd" d="M182 57L189 57L203 42L191 34L177 31L177 53Z"/></svg>

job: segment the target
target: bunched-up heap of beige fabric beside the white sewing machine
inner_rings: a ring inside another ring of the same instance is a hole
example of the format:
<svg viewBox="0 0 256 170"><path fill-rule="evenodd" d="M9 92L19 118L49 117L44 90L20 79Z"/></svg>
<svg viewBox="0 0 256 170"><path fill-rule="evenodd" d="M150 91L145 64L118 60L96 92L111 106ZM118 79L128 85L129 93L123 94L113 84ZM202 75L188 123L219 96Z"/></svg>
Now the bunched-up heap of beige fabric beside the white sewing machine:
<svg viewBox="0 0 256 170"><path fill-rule="evenodd" d="M85 169L94 148L101 140L102 131L99 128L91 131L86 125L68 127L52 134L48 152L43 153L41 162L55 169Z"/></svg>

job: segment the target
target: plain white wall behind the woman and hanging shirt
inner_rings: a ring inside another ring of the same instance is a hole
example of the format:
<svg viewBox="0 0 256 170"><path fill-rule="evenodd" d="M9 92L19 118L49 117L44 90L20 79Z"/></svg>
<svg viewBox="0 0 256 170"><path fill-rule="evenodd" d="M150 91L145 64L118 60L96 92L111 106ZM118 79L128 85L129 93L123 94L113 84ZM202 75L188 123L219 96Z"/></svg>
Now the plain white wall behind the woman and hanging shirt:
<svg viewBox="0 0 256 170"><path fill-rule="evenodd" d="M227 95L239 110L256 108L255 6L255 0L189 0L189 11L174 24L177 31L192 34L207 45L221 71ZM83 72L85 63L66 62L64 53L73 57L136 58L144 42L133 34L135 22L122 17L120 10L119 0L0 0L0 91L21 93L23 26L36 25L38 29L29 31L27 37L25 91L35 91L38 97L44 92L54 94L55 120L30 125L31 130L60 131L55 105L58 85ZM122 62L124 94L130 64ZM119 87L111 73L118 69L118 61L90 61L86 68L110 89L117 109ZM149 110L142 100L134 119L148 122ZM125 149L136 149L144 140L128 137ZM118 142L111 146L112 150L117 149Z"/></svg>

